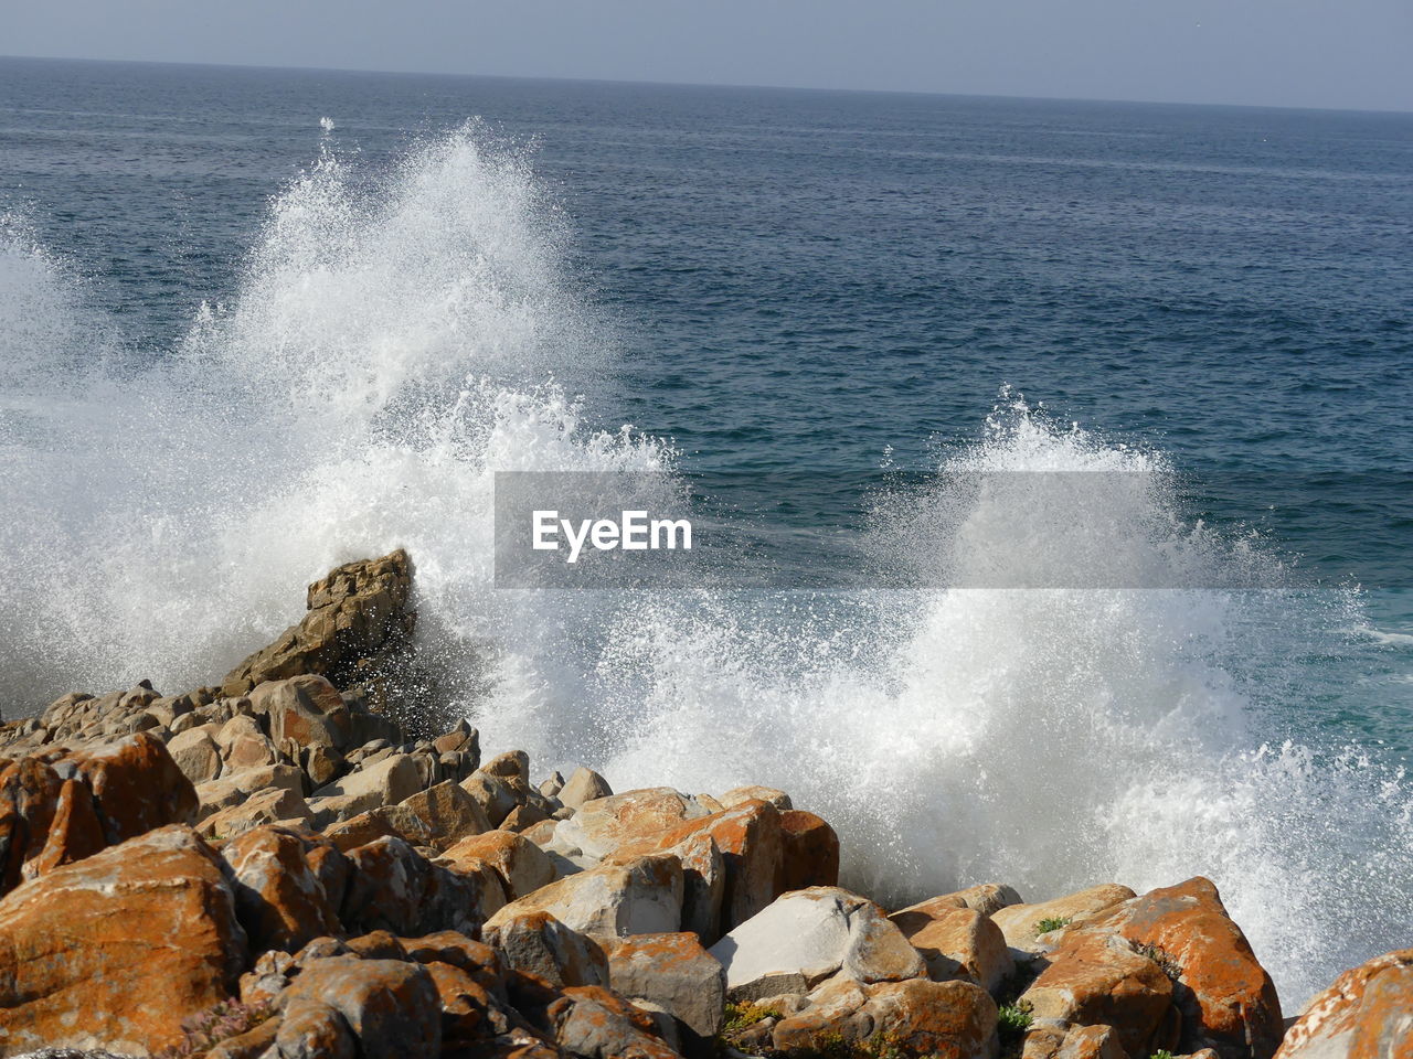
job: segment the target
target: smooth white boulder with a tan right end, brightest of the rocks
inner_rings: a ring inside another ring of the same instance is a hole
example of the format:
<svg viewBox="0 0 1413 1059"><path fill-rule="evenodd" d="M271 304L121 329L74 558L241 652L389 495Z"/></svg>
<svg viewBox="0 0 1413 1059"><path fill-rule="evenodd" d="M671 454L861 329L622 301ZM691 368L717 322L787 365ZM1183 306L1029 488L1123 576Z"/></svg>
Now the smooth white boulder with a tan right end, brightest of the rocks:
<svg viewBox="0 0 1413 1059"><path fill-rule="evenodd" d="M807 993L835 974L863 983L927 974L882 908L838 887L786 894L716 942L711 955L726 969L735 1001Z"/></svg>

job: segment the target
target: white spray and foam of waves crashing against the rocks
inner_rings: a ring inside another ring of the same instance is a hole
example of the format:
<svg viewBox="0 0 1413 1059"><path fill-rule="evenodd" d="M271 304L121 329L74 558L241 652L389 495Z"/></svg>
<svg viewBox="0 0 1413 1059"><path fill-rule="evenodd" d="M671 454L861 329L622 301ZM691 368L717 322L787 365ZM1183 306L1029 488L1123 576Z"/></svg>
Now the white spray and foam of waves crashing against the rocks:
<svg viewBox="0 0 1413 1059"><path fill-rule="evenodd" d="M421 651L483 743L536 770L780 786L839 830L845 884L893 901L1205 874L1291 1012L1409 942L1402 772L1266 736L1299 686L1284 659L1365 624L1358 594L1287 586L1267 545L1184 521L1171 460L1102 424L1003 393L926 489L877 498L879 548L1013 587L497 590L497 472L687 470L663 439L591 425L613 322L523 152L468 126L374 171L331 134L229 304L171 349L124 345L64 249L4 220L6 717L209 683L298 617L307 582L403 546ZM1095 487L1037 505L957 484L1016 472ZM1266 587L1024 587L1074 566Z"/></svg>

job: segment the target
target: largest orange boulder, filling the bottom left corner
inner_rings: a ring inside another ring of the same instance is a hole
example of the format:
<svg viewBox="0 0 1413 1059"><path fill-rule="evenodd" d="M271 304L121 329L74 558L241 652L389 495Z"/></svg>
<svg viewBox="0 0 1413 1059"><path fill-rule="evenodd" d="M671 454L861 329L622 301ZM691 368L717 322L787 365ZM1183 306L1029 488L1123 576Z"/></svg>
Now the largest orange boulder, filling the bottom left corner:
<svg viewBox="0 0 1413 1059"><path fill-rule="evenodd" d="M3 1046L146 1053L175 1043L187 1015L235 991L246 962L222 868L174 825L0 901Z"/></svg>

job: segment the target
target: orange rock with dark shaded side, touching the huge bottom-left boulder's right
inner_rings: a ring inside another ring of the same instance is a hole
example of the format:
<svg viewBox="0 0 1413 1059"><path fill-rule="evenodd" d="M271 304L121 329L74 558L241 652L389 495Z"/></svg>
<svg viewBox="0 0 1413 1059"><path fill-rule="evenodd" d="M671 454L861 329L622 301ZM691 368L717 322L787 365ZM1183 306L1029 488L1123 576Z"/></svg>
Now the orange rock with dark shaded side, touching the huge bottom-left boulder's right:
<svg viewBox="0 0 1413 1059"><path fill-rule="evenodd" d="M298 952L339 933L338 905L308 863L309 840L284 827L249 830L223 849L236 914L256 952Z"/></svg>

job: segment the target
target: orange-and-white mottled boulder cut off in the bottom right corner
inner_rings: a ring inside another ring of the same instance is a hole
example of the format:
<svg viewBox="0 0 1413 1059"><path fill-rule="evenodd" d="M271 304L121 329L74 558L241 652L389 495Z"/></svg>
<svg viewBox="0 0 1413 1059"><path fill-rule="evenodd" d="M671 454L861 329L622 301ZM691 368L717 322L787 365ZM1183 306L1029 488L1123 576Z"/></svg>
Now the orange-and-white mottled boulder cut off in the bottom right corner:
<svg viewBox="0 0 1413 1059"><path fill-rule="evenodd" d="M1286 1031L1276 1059L1406 1059L1413 1055L1413 949L1347 970Z"/></svg>

